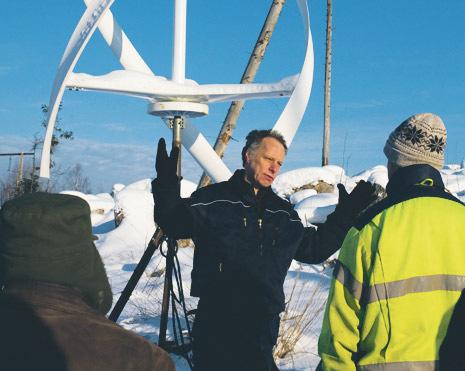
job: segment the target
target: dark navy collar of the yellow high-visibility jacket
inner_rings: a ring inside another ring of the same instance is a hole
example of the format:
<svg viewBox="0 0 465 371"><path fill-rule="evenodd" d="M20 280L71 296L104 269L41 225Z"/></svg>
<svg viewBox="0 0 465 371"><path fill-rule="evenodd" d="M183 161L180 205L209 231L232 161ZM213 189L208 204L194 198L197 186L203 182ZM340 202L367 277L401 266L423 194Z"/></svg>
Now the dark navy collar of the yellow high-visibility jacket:
<svg viewBox="0 0 465 371"><path fill-rule="evenodd" d="M441 173L427 164L401 167L392 175L386 186L388 195L402 193L413 186L430 186L444 189Z"/></svg>

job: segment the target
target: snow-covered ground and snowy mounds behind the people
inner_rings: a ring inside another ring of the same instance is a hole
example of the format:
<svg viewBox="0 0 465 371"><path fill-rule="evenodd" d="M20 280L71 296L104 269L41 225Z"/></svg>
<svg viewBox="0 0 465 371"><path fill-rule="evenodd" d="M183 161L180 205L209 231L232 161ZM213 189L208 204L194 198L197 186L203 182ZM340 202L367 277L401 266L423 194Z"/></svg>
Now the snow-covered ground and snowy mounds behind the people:
<svg viewBox="0 0 465 371"><path fill-rule="evenodd" d="M441 172L446 188L463 202L464 167L465 160L460 165L448 165ZM338 199L337 183L343 183L350 191L362 179L385 187L388 180L386 167L375 166L352 177L338 166L303 168L281 174L273 188L281 197L291 201L302 223L310 225L323 222L334 210ZM195 188L196 184L183 180L183 197L189 196ZM98 236L96 245L105 262L115 303L155 231L150 180L126 186L116 184L112 195L65 193L78 195L90 204L94 233ZM118 227L115 227L115 214L123 216ZM179 249L186 295L190 290L192 256L192 246ZM158 339L164 265L164 258L155 252L118 321L123 327L154 342ZM277 360L281 370L313 370L318 364L317 341L330 279L331 264L293 262L291 265L285 283L288 304L282 316L277 349L282 356ZM186 301L189 309L195 308L195 298L187 296ZM173 359L178 370L189 370L182 358L174 356Z"/></svg>

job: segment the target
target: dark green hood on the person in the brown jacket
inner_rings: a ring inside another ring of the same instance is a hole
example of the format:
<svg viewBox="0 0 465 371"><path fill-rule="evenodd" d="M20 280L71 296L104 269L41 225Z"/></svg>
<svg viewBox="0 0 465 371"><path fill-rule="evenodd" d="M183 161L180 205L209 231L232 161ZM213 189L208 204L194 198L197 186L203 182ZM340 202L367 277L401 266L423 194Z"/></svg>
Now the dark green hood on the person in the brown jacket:
<svg viewBox="0 0 465 371"><path fill-rule="evenodd" d="M102 313L112 293L93 243L90 208L64 194L32 193L0 210L0 284L42 281L77 288Z"/></svg>

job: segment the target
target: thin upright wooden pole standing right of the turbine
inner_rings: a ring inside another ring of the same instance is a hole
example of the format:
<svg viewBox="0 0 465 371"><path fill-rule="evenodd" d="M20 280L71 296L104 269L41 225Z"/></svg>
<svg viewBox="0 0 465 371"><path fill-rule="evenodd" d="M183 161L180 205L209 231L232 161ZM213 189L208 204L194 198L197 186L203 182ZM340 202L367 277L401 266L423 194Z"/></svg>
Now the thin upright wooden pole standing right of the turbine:
<svg viewBox="0 0 465 371"><path fill-rule="evenodd" d="M323 153L321 165L329 164L329 133L331 111L331 61L332 61L332 0L327 0L326 7L326 62L325 62L325 98L324 98L324 128L323 128Z"/></svg>

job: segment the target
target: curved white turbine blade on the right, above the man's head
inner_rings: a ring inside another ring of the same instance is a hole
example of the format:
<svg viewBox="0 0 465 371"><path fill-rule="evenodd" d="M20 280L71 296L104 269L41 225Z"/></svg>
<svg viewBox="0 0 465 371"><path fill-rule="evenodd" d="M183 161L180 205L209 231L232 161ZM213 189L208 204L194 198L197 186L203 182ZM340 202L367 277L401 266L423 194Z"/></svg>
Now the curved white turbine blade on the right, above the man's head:
<svg viewBox="0 0 465 371"><path fill-rule="evenodd" d="M287 145L292 143L302 121L305 109L308 105L313 83L313 42L310 30L310 18L308 15L308 4L306 0L297 0L297 4L299 5L300 14L307 34L305 59L302 65L302 70L300 71L297 85L289 98L286 107L284 107L283 112L273 127L274 130L279 131L284 136Z"/></svg>

